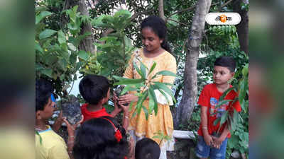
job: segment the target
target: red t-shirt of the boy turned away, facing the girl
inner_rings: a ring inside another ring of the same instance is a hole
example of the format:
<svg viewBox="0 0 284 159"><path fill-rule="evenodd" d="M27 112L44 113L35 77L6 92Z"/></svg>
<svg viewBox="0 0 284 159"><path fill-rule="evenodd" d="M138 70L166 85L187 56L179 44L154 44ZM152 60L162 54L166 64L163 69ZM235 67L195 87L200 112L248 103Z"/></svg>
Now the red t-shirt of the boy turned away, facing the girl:
<svg viewBox="0 0 284 159"><path fill-rule="evenodd" d="M89 112L89 110L87 110L87 106L88 106L87 103L81 106L81 112L82 112L82 115L84 116L83 122L85 122L88 119L92 119L92 118L98 118L98 117L104 117L104 116L111 117L111 115L107 113L107 110L104 107L102 108L102 110L98 110L96 112Z"/></svg>

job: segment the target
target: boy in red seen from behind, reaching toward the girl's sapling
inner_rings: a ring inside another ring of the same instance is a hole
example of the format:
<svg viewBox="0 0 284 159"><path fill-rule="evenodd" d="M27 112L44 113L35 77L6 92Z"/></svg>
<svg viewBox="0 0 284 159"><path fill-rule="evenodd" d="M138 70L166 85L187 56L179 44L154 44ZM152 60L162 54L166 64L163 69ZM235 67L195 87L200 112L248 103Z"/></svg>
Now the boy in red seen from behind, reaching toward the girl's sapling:
<svg viewBox="0 0 284 159"><path fill-rule="evenodd" d="M103 107L104 103L109 100L110 88L109 80L104 76L87 75L82 78L79 84L80 94L87 102L81 106L81 112L84 121L98 117L115 117L121 110L124 112L123 127L128 126L129 108L124 105L117 107L117 98L114 96L114 111L111 114Z"/></svg>

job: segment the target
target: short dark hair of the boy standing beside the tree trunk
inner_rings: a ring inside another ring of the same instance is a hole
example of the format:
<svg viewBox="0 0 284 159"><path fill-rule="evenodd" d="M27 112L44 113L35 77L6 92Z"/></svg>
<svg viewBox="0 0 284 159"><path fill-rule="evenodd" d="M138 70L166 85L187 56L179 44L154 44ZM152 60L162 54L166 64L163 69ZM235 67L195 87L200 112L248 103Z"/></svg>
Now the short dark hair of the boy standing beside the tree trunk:
<svg viewBox="0 0 284 159"><path fill-rule="evenodd" d="M214 62L214 66L224 66L229 71L234 72L236 69L236 61L233 57L218 57Z"/></svg>

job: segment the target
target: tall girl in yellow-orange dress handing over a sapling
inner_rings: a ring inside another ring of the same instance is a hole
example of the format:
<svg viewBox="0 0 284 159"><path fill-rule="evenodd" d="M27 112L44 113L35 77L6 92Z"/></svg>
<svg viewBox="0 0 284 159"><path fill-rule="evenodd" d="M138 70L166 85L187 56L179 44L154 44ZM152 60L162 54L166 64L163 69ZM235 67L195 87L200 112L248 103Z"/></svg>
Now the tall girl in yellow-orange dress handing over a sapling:
<svg viewBox="0 0 284 159"><path fill-rule="evenodd" d="M151 79L152 76L158 71L171 71L176 73L177 66L175 57L170 54L170 48L166 41L167 28L165 22L158 16L149 16L144 19L141 23L141 35L143 48L138 49L133 52L131 59L129 60L129 66L124 72L125 78L141 78L136 69L133 67L133 63L140 66L140 61L145 64L148 69L151 68L154 61L156 63L155 69L148 76L148 79ZM175 77L173 76L157 76L154 78L154 81L163 82L163 83L173 83ZM149 114L148 120L146 120L145 114L141 111L140 114L136 114L135 117L132 117L132 114L135 109L132 109L129 113L129 127L128 130L133 136L134 141L148 137L153 139L155 133L161 132L164 135L172 136L173 134L173 117L170 112L169 105L173 105L173 100L168 98L166 100L159 91L155 91L155 95L158 101L158 114L155 115L153 112ZM170 97L170 96L169 96ZM138 101L138 97L134 93L129 93L123 95L119 98L121 104L130 103L133 101L133 108ZM143 105L148 109L149 100L145 100ZM166 149L167 145L165 141L160 141L160 139L153 139L156 141L161 148L160 158L166 158Z"/></svg>

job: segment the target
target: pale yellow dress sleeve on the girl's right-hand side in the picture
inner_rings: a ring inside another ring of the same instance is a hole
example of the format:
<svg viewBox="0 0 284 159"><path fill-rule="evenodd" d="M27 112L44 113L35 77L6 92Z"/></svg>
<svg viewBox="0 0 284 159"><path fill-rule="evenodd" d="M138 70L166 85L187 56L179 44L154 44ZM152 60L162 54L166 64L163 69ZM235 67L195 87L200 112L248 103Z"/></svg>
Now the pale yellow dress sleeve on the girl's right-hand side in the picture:
<svg viewBox="0 0 284 159"><path fill-rule="evenodd" d="M168 59L168 58L167 58ZM170 60L165 60L165 71L171 71L173 73L177 73L177 64L175 61L175 57L170 56ZM175 81L174 76L163 76L163 83L173 83Z"/></svg>

